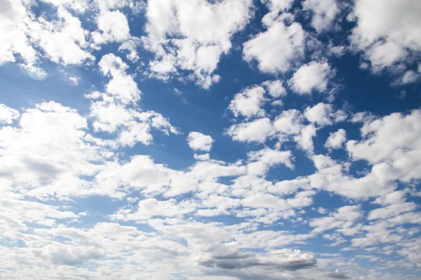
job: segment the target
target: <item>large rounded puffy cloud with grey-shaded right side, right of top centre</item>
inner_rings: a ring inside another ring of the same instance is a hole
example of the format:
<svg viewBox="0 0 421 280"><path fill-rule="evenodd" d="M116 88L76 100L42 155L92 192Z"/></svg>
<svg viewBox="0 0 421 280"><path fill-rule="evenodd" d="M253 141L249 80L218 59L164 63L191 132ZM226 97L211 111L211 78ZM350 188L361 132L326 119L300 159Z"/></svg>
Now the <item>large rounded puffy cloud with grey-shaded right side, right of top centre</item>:
<svg viewBox="0 0 421 280"><path fill-rule="evenodd" d="M243 45L247 62L257 60L259 70L265 73L284 73L304 55L305 31L298 22L286 26L274 22L267 31Z"/></svg>

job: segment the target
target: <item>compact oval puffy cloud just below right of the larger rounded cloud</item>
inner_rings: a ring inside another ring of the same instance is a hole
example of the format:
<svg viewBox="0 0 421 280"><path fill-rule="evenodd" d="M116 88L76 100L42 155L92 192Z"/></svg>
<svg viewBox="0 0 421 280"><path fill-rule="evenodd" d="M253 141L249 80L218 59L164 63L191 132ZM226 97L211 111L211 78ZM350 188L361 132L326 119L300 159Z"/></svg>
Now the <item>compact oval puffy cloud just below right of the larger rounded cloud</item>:
<svg viewBox="0 0 421 280"><path fill-rule="evenodd" d="M295 71L293 77L288 80L288 85L298 94L325 92L333 76L335 70L330 68L328 62L310 62Z"/></svg>

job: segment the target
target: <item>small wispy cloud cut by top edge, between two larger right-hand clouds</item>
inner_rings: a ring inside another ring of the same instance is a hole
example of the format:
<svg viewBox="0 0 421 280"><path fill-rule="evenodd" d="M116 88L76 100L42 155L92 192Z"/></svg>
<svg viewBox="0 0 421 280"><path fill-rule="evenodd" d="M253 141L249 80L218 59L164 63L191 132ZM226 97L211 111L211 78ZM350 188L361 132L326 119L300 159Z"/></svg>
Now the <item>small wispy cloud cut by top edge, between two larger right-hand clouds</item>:
<svg viewBox="0 0 421 280"><path fill-rule="evenodd" d="M317 32L330 29L336 15L340 12L338 3L335 0L305 0L302 3L304 10L311 10L314 13L312 18L312 27Z"/></svg>

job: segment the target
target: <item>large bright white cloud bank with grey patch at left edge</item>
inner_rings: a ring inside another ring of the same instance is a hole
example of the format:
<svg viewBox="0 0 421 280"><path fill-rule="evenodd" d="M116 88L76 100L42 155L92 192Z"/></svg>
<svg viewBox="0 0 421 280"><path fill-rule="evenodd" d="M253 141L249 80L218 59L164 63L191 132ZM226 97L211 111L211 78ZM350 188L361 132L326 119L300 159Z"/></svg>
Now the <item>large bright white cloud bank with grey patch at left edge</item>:
<svg viewBox="0 0 421 280"><path fill-rule="evenodd" d="M25 109L18 127L0 130L0 169L8 174L1 179L3 188L28 197L101 193L81 177L93 176L101 167L92 162L112 153L86 140L86 128L86 119L76 110L55 102Z"/></svg>

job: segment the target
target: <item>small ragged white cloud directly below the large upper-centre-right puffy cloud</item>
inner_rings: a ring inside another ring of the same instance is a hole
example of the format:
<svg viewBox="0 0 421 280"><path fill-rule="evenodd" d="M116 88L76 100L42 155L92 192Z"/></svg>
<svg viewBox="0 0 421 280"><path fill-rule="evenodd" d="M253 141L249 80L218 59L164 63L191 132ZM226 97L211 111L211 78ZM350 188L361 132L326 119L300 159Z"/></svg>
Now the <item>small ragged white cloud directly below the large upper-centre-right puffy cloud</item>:
<svg viewBox="0 0 421 280"><path fill-rule="evenodd" d="M262 106L265 101L265 89L263 87L248 87L234 95L228 109L234 113L236 118L239 115L246 118L263 117L265 116L265 109L262 109Z"/></svg>

